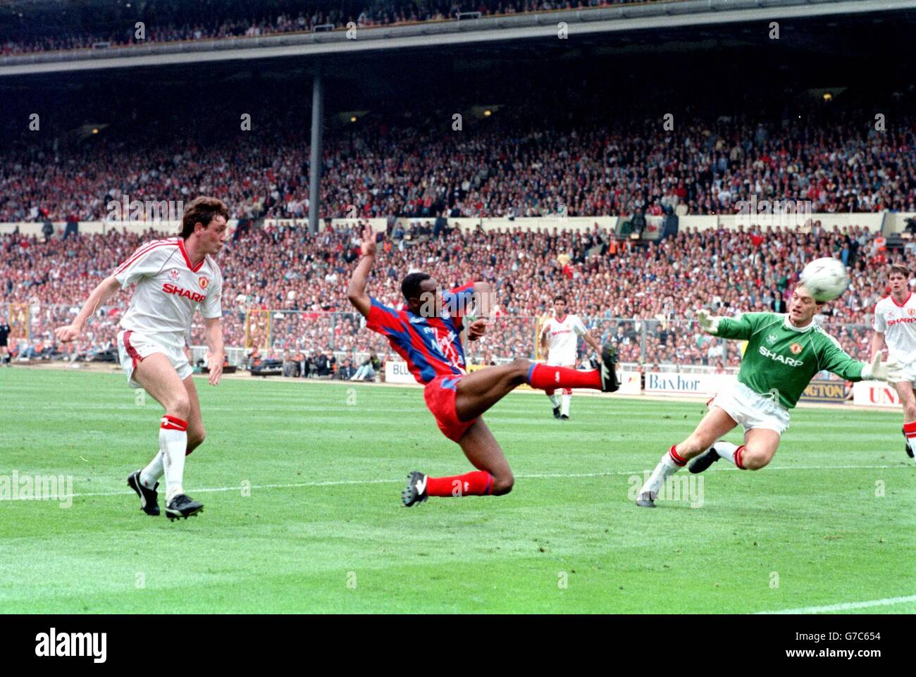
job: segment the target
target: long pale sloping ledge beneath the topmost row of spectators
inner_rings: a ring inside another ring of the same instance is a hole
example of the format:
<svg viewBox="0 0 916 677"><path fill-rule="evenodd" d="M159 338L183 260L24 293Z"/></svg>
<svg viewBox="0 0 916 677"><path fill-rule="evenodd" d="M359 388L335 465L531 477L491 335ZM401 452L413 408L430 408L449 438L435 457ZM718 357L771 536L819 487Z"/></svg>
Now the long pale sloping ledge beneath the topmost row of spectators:
<svg viewBox="0 0 916 677"><path fill-rule="evenodd" d="M259 38L225 38L158 43L114 49L37 52L0 58L0 76L60 71L97 71L204 62L347 56L379 50L463 47L504 49L513 43L549 39L555 47L558 24L568 26L570 41L646 29L714 27L735 23L791 21L830 17L857 19L867 13L916 8L916 0L683 0L648 5L616 5L585 10L556 10L515 16L485 16L472 21L427 22L412 26L359 28L356 39L345 30L289 33ZM828 24L829 25L829 24ZM566 41L562 41L566 43ZM561 45L564 49L569 44Z"/></svg>

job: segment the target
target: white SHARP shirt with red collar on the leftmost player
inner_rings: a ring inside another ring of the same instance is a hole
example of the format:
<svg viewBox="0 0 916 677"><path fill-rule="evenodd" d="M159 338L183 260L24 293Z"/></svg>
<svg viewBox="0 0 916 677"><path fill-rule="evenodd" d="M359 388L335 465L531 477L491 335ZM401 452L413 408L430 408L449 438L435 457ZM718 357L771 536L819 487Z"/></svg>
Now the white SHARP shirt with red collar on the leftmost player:
<svg viewBox="0 0 916 677"><path fill-rule="evenodd" d="M180 237L154 240L140 246L114 269L121 288L136 283L121 327L133 332L155 334L163 344L183 348L198 307L203 317L223 315L223 274L213 257L197 266Z"/></svg>

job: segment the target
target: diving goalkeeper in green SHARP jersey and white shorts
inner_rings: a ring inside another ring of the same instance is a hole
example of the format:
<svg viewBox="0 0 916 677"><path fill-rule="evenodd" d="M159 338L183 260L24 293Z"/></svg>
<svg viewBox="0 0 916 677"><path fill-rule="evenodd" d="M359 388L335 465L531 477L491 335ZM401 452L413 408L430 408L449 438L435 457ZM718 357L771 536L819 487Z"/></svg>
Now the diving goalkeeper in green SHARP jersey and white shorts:
<svg viewBox="0 0 916 677"><path fill-rule="evenodd" d="M702 473L720 458L742 470L759 470L769 464L780 436L789 427L789 409L824 369L849 381L900 380L900 366L893 360L882 362L880 353L868 365L846 355L836 339L813 322L822 305L799 286L786 314L747 312L732 319L697 312L705 333L747 341L738 380L710 402L709 412L692 435L661 457L639 490L638 506L654 508L665 479L691 459L692 473ZM738 423L744 426L745 443L722 442L720 438Z"/></svg>

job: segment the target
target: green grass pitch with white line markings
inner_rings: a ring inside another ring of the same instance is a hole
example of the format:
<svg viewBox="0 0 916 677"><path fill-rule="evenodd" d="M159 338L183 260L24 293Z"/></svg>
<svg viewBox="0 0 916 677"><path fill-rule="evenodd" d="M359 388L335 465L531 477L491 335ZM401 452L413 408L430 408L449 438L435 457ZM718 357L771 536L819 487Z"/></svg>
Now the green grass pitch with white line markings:
<svg viewBox="0 0 916 677"><path fill-rule="evenodd" d="M747 613L916 593L897 410L796 409L769 468L715 464L702 507L649 510L633 487L702 404L578 397L561 422L512 394L485 418L513 492L406 509L410 470L471 469L420 389L197 383L208 438L185 488L205 509L171 523L125 481L157 447L155 401L120 375L0 369L0 475L72 475L77 495L0 501L0 612Z"/></svg>

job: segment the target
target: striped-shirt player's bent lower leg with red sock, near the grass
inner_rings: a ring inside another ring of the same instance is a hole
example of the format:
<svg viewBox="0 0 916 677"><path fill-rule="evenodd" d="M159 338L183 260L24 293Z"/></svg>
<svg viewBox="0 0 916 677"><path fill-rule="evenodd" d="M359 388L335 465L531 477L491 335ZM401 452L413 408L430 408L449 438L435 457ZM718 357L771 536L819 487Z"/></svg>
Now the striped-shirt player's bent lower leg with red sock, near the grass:
<svg viewBox="0 0 916 677"><path fill-rule="evenodd" d="M474 421L458 442L477 470L464 475L430 477L410 473L401 499L408 508L427 497L502 496L512 490L515 478L499 442L484 420Z"/></svg>

